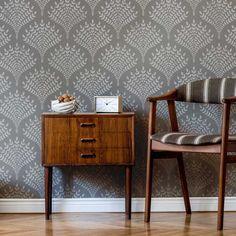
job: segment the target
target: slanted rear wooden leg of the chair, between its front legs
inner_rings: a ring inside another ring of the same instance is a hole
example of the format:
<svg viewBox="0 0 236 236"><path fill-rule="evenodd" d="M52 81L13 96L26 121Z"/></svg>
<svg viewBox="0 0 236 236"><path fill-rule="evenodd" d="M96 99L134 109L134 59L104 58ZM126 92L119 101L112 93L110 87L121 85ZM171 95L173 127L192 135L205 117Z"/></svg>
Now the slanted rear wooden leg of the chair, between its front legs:
<svg viewBox="0 0 236 236"><path fill-rule="evenodd" d="M191 205L190 205L190 200L189 200L188 185L186 181L184 161L183 161L182 154L178 154L177 162L178 162L178 167L179 167L179 175L180 175L181 187L183 191L185 210L187 214L191 214Z"/></svg>

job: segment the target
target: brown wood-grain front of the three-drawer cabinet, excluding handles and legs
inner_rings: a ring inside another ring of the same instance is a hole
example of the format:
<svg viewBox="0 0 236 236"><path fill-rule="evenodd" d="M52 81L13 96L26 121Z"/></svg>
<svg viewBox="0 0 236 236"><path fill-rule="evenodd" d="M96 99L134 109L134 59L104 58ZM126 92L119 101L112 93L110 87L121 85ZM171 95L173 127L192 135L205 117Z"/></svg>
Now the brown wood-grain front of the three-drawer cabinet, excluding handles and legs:
<svg viewBox="0 0 236 236"><path fill-rule="evenodd" d="M133 117L46 116L43 165L133 164ZM81 127L81 124L95 126ZM92 139L92 142L82 142ZM82 159L94 153L96 158Z"/></svg>

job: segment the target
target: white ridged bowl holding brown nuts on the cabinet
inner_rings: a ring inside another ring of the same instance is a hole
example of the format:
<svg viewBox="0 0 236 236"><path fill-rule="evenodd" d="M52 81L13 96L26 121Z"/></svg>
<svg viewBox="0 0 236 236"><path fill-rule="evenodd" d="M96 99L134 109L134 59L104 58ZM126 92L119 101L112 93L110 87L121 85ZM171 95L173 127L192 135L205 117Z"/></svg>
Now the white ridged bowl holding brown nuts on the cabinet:
<svg viewBox="0 0 236 236"><path fill-rule="evenodd" d="M51 101L51 109L58 113L73 113L78 109L78 103L75 100L61 103L58 100L54 100Z"/></svg>

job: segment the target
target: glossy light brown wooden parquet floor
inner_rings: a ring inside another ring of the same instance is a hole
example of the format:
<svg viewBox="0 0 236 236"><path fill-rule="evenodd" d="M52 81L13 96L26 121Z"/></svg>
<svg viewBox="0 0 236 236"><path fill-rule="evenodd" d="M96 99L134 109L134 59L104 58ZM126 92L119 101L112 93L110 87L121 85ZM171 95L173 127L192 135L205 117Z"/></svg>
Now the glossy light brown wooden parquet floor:
<svg viewBox="0 0 236 236"><path fill-rule="evenodd" d="M0 235L14 236L113 236L113 235L236 235L236 213L225 214L225 229L216 231L216 213L153 213L151 223L143 214L132 214L131 221L122 213L60 213L45 221L43 214L0 214Z"/></svg>

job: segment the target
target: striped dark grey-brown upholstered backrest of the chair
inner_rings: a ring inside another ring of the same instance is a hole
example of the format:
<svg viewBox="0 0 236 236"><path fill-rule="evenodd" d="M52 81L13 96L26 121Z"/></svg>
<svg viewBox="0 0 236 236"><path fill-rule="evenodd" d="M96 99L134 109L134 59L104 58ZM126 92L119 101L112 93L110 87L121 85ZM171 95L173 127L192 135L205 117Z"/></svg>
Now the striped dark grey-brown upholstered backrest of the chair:
<svg viewBox="0 0 236 236"><path fill-rule="evenodd" d="M222 103L232 96L236 96L236 78L205 79L178 87L176 101Z"/></svg>

